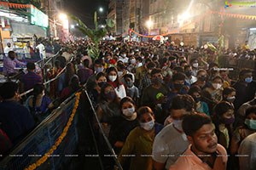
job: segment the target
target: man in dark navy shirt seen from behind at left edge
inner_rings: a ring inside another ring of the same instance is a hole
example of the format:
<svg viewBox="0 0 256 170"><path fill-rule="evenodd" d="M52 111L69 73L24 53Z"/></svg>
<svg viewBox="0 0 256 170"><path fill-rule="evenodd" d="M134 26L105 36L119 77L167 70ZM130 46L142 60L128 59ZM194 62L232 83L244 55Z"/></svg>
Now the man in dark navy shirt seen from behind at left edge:
<svg viewBox="0 0 256 170"><path fill-rule="evenodd" d="M13 144L23 139L35 123L26 107L18 104L18 84L5 82L0 88L0 127Z"/></svg>

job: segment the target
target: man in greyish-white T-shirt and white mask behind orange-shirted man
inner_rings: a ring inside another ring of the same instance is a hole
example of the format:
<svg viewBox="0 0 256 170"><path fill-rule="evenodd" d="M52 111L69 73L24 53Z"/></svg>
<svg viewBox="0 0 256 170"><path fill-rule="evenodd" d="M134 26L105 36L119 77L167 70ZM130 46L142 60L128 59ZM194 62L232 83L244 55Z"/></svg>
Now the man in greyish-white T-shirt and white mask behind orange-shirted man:
<svg viewBox="0 0 256 170"><path fill-rule="evenodd" d="M172 99L169 109L171 115L165 124L171 122L155 137L153 144L154 169L169 169L189 147L189 141L183 132L183 117L191 114L195 107L194 99L189 95L177 95Z"/></svg>

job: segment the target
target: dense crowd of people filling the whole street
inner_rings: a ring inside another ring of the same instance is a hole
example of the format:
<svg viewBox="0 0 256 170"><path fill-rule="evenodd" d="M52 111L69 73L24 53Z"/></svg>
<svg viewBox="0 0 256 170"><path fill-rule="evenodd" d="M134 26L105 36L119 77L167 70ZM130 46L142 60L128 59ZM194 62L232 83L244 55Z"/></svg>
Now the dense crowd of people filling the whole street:
<svg viewBox="0 0 256 170"><path fill-rule="evenodd" d="M252 70L242 69L238 79L231 80L230 71L213 62L216 54L209 48L168 43L101 42L100 56L94 59L86 51L89 43L67 43L75 59L68 62L69 55L60 53L55 65L49 65L49 79L66 65L61 77L51 82L49 93L35 65L26 64L28 72L20 79L20 87L33 88L26 107L15 102L18 85L3 84L0 127L12 143L44 119L55 107L53 100L64 101L84 86L124 169L256 168ZM253 60L255 52L236 48L224 53ZM99 131L96 119L94 125Z"/></svg>

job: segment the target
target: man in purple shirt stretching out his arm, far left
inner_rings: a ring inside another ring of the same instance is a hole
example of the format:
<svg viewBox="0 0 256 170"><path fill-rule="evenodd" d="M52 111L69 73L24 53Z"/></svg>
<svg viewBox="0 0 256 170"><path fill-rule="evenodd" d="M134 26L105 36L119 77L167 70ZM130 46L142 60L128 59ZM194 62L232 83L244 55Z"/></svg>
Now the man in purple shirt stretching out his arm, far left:
<svg viewBox="0 0 256 170"><path fill-rule="evenodd" d="M8 57L3 59L3 73L5 76L13 76L19 71L15 70L16 65L26 65L25 63L20 62L18 59L15 59L16 54L14 51L9 51Z"/></svg>

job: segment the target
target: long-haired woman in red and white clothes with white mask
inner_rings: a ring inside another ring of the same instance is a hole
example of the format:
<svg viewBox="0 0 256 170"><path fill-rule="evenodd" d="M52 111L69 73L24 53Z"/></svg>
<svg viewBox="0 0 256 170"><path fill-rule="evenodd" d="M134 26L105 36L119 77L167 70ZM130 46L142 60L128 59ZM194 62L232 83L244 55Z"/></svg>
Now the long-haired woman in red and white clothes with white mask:
<svg viewBox="0 0 256 170"><path fill-rule="evenodd" d="M107 69L107 82L110 83L120 99L126 97L125 85L119 81L118 71L115 67Z"/></svg>

